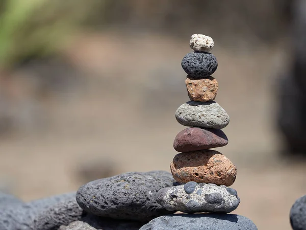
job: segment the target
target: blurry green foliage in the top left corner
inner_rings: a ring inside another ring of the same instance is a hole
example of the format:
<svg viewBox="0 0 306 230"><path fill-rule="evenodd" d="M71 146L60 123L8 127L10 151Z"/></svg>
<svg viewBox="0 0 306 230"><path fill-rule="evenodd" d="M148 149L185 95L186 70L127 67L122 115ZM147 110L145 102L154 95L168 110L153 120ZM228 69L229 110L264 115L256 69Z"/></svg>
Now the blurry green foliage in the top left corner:
<svg viewBox="0 0 306 230"><path fill-rule="evenodd" d="M56 54L105 0L0 0L0 68Z"/></svg>

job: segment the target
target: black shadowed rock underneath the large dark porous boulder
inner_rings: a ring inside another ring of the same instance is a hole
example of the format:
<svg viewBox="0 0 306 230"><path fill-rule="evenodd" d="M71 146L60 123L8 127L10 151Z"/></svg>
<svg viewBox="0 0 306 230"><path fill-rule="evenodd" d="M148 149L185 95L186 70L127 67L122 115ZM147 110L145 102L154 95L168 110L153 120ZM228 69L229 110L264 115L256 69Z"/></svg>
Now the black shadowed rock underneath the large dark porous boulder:
<svg viewBox="0 0 306 230"><path fill-rule="evenodd" d="M96 229L103 230L138 230L142 225L147 222L138 222L132 220L115 220L107 217L99 217L88 214L81 221L88 223Z"/></svg>

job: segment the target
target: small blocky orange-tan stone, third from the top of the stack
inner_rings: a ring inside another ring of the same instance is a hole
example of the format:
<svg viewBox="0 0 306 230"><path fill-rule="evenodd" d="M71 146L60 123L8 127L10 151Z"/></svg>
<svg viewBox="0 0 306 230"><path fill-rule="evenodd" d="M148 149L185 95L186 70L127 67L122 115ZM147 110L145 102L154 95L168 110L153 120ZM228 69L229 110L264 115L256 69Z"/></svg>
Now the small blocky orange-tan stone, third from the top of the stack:
<svg viewBox="0 0 306 230"><path fill-rule="evenodd" d="M185 81L191 101L213 101L218 92L218 81L213 77L195 79L187 76Z"/></svg>

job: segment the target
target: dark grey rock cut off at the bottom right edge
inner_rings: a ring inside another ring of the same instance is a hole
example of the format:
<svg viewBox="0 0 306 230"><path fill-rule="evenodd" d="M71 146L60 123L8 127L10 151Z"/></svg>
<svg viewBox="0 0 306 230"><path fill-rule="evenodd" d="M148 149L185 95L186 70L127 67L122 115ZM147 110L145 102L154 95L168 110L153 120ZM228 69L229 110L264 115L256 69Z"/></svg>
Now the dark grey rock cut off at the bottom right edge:
<svg viewBox="0 0 306 230"><path fill-rule="evenodd" d="M306 230L306 195L298 198L292 205L290 223L293 230Z"/></svg>

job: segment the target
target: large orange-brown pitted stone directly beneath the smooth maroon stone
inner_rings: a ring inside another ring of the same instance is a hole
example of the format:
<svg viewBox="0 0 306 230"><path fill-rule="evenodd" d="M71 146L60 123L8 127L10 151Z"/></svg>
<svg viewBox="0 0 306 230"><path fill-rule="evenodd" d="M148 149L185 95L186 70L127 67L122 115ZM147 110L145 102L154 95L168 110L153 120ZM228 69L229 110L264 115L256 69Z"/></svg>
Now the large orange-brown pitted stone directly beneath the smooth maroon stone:
<svg viewBox="0 0 306 230"><path fill-rule="evenodd" d="M215 183L233 185L237 170L226 156L214 150L200 150L176 154L170 164L173 178L180 183Z"/></svg>

